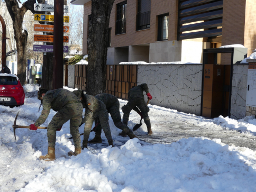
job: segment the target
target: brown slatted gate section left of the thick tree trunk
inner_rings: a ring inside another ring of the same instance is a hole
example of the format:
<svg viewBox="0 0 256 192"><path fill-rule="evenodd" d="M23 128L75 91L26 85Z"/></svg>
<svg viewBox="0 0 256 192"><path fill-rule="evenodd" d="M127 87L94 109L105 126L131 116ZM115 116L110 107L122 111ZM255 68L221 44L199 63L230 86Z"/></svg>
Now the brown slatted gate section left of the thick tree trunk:
<svg viewBox="0 0 256 192"><path fill-rule="evenodd" d="M75 88L86 92L87 65L75 65Z"/></svg>

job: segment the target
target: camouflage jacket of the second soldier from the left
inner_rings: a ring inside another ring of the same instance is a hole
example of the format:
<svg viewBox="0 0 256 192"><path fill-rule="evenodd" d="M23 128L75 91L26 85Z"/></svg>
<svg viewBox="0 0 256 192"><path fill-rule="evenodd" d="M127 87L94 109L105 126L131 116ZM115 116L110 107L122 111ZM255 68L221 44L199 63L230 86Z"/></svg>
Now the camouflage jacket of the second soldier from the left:
<svg viewBox="0 0 256 192"><path fill-rule="evenodd" d="M83 99L81 100L81 103L83 104L83 107L86 109L85 110L85 117L83 118L82 122L86 123L87 120L89 120L89 118L94 118L97 117L99 114L98 112L100 110L106 110L106 106L105 104L98 100L96 97L92 96L92 95L87 95L84 94L82 96L83 91L78 89L78 90L74 90L74 94L77 97L83 97ZM85 126L90 126L92 127L92 125L85 125Z"/></svg>

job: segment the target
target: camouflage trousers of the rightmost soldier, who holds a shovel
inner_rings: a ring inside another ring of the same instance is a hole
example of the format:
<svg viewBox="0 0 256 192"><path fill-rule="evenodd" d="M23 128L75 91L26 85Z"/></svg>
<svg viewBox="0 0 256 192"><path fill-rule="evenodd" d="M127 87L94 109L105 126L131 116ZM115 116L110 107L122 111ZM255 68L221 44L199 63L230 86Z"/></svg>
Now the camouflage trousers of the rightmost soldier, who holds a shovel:
<svg viewBox="0 0 256 192"><path fill-rule="evenodd" d="M132 109L137 106L144 118L144 122L147 125L147 128L149 129L151 127L150 119L149 119L149 107L145 103L145 100L139 97L129 97L128 103L122 107L122 111L124 113L123 115L123 123L127 125L129 121L129 115Z"/></svg>

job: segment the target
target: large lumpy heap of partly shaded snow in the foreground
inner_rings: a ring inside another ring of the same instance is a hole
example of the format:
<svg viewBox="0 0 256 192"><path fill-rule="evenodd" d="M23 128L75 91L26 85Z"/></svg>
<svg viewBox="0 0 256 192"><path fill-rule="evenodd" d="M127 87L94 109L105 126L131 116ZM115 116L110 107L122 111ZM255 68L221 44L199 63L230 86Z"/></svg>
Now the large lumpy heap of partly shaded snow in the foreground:
<svg viewBox="0 0 256 192"><path fill-rule="evenodd" d="M170 145L88 150L59 158L20 191L255 191L255 152L220 140L181 139Z"/></svg>

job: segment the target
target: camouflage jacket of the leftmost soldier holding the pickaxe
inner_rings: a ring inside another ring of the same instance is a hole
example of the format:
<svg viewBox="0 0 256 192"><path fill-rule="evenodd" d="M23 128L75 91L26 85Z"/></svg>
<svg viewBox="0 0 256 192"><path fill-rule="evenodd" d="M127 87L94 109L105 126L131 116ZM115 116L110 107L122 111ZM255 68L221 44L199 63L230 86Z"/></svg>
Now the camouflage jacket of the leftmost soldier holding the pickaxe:
<svg viewBox="0 0 256 192"><path fill-rule="evenodd" d="M43 96L43 110L35 122L35 126L39 126L45 122L47 119L50 109L53 109L54 111L59 111L67 104L67 102L79 102L79 99L75 94L70 92L67 89L54 89L49 90L44 96Z"/></svg>

